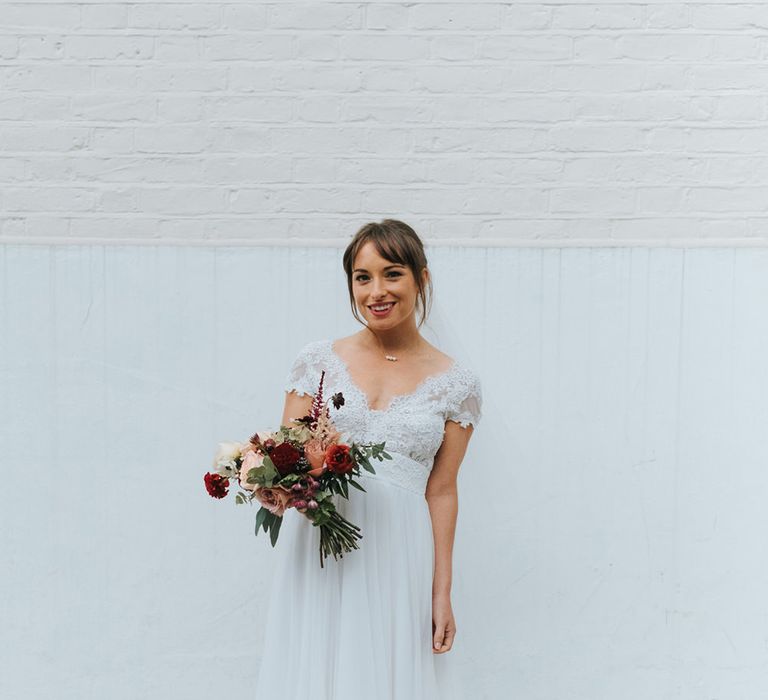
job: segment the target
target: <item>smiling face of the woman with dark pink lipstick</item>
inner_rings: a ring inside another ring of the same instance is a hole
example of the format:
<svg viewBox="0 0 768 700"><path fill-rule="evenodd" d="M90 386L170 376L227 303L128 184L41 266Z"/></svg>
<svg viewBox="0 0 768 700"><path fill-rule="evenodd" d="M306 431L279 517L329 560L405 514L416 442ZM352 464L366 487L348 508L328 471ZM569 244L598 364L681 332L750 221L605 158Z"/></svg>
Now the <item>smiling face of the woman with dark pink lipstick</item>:
<svg viewBox="0 0 768 700"><path fill-rule="evenodd" d="M426 279L426 268L423 274ZM372 328L392 328L408 318L415 325L419 290L411 268L383 258L372 241L367 241L355 258L352 293L360 314Z"/></svg>

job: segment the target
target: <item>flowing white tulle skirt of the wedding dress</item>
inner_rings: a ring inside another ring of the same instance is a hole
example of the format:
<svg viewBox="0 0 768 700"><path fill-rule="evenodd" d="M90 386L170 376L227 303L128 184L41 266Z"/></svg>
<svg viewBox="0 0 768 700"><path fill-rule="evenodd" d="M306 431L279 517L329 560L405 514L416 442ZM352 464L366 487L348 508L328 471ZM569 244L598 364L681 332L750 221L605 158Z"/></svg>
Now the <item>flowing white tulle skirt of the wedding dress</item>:
<svg viewBox="0 0 768 700"><path fill-rule="evenodd" d="M432 651L434 542L426 468L373 461L336 507L359 549L320 567L319 529L289 509L275 550L256 700L456 700L452 651ZM414 476L416 479L414 479ZM262 533L265 534L266 533Z"/></svg>

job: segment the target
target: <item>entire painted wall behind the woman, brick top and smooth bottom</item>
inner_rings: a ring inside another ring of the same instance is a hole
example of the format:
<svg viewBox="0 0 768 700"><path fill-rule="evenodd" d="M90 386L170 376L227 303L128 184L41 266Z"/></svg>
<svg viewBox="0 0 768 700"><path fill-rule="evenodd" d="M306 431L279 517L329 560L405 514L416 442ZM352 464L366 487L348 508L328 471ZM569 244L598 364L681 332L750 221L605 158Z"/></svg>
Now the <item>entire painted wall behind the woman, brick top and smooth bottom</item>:
<svg viewBox="0 0 768 700"><path fill-rule="evenodd" d="M768 697L766 57L734 0L1 3L0 698L252 697L202 474L385 217L483 382L466 696Z"/></svg>

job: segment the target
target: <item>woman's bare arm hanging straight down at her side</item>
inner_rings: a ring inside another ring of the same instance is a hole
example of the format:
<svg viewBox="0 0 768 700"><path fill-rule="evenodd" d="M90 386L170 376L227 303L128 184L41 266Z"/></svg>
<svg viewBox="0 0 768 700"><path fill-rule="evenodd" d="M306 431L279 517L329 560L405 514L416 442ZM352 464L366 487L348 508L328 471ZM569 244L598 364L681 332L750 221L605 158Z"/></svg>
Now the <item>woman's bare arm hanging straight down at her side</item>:
<svg viewBox="0 0 768 700"><path fill-rule="evenodd" d="M453 644L456 625L451 610L453 541L459 512L456 478L467 451L473 426L462 428L454 421L445 422L445 435L435 455L427 481L425 498L432 519L435 543L435 569L432 577L433 634L435 650L448 651Z"/></svg>

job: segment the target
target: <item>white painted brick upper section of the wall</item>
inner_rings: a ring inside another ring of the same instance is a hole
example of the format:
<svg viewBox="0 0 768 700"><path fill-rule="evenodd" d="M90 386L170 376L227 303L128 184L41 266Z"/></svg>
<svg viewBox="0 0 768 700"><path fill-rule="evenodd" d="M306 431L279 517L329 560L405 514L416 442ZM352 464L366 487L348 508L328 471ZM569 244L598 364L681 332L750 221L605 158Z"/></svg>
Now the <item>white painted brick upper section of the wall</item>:
<svg viewBox="0 0 768 700"><path fill-rule="evenodd" d="M768 4L3 2L0 240L768 241Z"/></svg>

